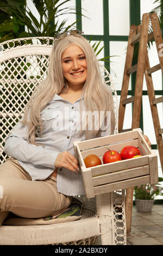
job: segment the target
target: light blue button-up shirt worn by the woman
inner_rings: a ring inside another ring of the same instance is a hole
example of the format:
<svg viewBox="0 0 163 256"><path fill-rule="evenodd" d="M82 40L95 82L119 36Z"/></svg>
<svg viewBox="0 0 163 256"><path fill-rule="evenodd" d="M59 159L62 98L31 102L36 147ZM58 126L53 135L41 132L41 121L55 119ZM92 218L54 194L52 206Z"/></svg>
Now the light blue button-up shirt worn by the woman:
<svg viewBox="0 0 163 256"><path fill-rule="evenodd" d="M74 155L73 142L86 139L85 131L79 135L74 129L79 111L79 100L72 104L55 94L41 112L43 134L36 137L39 146L27 142L28 127L18 122L5 141L4 152L17 159L32 180L45 180L54 171L58 154L69 151ZM85 194L82 174L58 168L57 189L68 196Z"/></svg>

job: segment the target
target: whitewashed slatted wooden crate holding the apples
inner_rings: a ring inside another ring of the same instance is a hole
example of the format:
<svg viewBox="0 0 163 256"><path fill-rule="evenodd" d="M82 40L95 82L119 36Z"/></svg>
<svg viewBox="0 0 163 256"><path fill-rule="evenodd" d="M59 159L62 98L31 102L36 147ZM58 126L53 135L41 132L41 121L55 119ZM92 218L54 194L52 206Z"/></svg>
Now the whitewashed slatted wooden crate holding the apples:
<svg viewBox="0 0 163 256"><path fill-rule="evenodd" d="M87 198L115 190L158 182L158 159L155 150L149 148L141 129L104 136L86 141L76 141L74 152L79 161ZM108 149L120 153L126 145L139 148L141 157L103 164L103 155ZM102 165L86 168L84 159L95 154Z"/></svg>

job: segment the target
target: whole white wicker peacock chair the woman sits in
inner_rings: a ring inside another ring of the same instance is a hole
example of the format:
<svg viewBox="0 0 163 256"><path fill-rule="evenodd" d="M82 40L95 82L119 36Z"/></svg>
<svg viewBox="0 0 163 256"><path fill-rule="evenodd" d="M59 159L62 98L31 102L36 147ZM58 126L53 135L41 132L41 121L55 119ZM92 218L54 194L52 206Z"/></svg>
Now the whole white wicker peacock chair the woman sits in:
<svg viewBox="0 0 163 256"><path fill-rule="evenodd" d="M5 138L18 120L33 89L47 74L49 54L54 38L22 38L5 41L0 46L0 100L2 164ZM103 67L104 82L114 95L116 130L118 131L118 100L109 72ZM78 221L49 225L2 225L0 245L126 245L126 218L124 190L101 194L85 200ZM121 215L121 217L120 217ZM97 243L96 237L101 241ZM96 242L95 242L96 240Z"/></svg>

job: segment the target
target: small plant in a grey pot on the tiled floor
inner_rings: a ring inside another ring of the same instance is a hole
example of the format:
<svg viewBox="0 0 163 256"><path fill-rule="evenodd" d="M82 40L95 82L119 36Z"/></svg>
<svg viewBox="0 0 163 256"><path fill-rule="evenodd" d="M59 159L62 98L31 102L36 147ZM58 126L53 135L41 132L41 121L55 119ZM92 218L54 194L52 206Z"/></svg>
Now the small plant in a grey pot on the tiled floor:
<svg viewBox="0 0 163 256"><path fill-rule="evenodd" d="M159 181L162 181L159 178ZM155 196L161 195L163 188L161 184L144 184L134 187L136 209L139 212L151 212Z"/></svg>

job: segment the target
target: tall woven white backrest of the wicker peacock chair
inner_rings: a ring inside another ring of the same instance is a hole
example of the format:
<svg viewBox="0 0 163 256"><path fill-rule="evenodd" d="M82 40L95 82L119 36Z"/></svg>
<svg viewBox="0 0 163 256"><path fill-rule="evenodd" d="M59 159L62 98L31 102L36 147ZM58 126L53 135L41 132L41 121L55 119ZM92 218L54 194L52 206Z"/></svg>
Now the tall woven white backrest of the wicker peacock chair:
<svg viewBox="0 0 163 256"><path fill-rule="evenodd" d="M5 139L22 118L33 90L47 76L49 55L54 38L36 37L5 41L0 45L0 164L8 156L4 153ZM101 65L101 64L100 64ZM109 72L101 65L104 82L114 96L116 127L118 132L118 100Z"/></svg>

